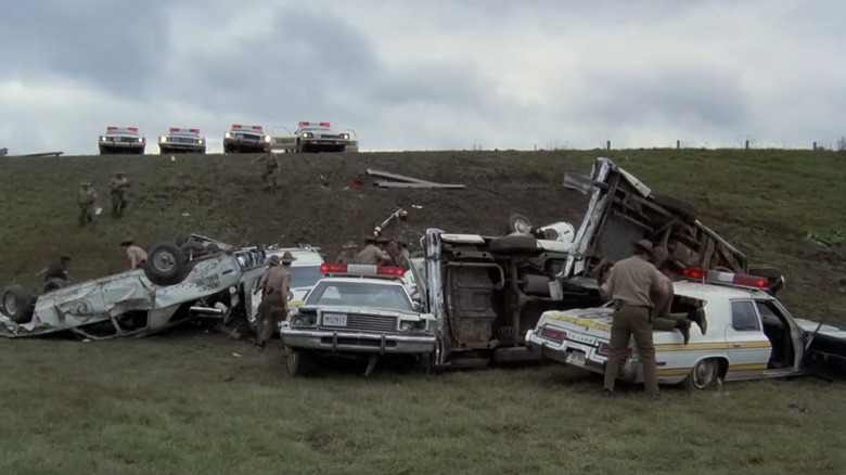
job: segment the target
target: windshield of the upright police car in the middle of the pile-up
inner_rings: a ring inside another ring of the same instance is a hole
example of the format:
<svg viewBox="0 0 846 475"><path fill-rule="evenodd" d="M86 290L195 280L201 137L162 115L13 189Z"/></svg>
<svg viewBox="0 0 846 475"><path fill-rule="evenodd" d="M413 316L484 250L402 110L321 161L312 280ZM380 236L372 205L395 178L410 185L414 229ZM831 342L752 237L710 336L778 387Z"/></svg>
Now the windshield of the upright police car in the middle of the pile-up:
<svg viewBox="0 0 846 475"><path fill-rule="evenodd" d="M414 311L402 285L361 282L318 283L304 305L352 306L385 310Z"/></svg>

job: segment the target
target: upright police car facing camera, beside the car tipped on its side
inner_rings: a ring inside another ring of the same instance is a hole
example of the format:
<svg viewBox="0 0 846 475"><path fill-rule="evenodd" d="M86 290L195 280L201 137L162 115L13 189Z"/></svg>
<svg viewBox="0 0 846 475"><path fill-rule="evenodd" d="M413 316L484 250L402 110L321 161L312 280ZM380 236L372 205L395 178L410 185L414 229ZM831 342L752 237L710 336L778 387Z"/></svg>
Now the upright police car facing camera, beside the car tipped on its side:
<svg viewBox="0 0 846 475"><path fill-rule="evenodd" d="M399 267L323 264L324 277L280 330L287 371L307 373L316 359L363 356L366 375L380 355L409 355L428 372L435 350L434 318L421 313Z"/></svg>

